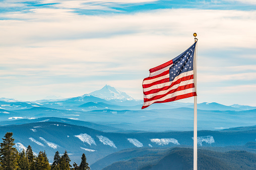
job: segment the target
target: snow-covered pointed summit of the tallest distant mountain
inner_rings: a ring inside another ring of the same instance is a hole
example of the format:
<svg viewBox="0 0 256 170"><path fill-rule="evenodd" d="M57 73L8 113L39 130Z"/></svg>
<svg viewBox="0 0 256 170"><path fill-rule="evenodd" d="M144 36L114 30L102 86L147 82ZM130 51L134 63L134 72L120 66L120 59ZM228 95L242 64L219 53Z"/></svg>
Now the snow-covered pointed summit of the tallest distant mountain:
<svg viewBox="0 0 256 170"><path fill-rule="evenodd" d="M105 100L134 100L131 96L109 85L105 85L102 89L91 92L89 95Z"/></svg>

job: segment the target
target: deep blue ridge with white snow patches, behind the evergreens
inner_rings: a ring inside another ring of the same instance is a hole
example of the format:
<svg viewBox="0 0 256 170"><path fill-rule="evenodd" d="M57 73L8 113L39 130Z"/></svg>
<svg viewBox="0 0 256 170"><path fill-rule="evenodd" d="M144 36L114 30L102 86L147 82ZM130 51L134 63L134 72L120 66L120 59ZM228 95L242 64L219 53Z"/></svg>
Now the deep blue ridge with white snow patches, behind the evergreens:
<svg viewBox="0 0 256 170"><path fill-rule="evenodd" d="M54 119L58 121L50 121ZM193 146L193 131L103 132L85 127L97 126L88 122L80 121L77 122L80 125L74 125L70 124L69 120L61 118L39 118L36 121L38 122L0 126L0 136L4 136L7 131L13 132L19 150L28 145L31 145L36 153L45 150L50 162L55 151L63 153L65 149L70 153L72 161L76 162L81 160L81 154L85 152L88 162L92 164L104 156L127 148ZM82 124L84 126L81 126ZM240 147L255 141L255 135L256 126L230 131L200 130L198 144L204 147ZM256 152L256 149L250 148L247 151Z"/></svg>

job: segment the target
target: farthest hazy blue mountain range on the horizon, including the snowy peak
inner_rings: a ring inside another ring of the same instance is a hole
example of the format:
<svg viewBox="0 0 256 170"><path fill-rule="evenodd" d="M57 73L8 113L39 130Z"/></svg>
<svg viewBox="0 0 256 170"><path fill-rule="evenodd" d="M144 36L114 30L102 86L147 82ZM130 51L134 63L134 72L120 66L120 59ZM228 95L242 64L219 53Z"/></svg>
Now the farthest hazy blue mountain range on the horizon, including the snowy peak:
<svg viewBox="0 0 256 170"><path fill-rule="evenodd" d="M116 90L114 87L109 85L105 85L102 89L91 92L89 94L84 94L82 96L73 97L73 98L66 98L66 99L49 99L49 100L37 100L37 101L27 101L21 102L15 99L8 99L8 98L0 98L0 107L6 110L17 110L17 109L27 109L32 107L49 107L49 108L62 108L62 109L74 109L74 110L82 110L78 106L83 105L88 102L94 103L104 103L105 107L111 108L111 105L117 106L126 106L130 107L129 110L140 110L143 104L143 100L135 100L133 97L127 95L124 92ZM91 103L95 106L95 104ZM89 107L87 110L92 110ZM103 106L95 106L93 109L102 109ZM112 106L113 107L113 106ZM114 106L116 107L116 106ZM125 109L126 107L119 107L120 110ZM170 108L179 108L179 107L188 107L193 108L193 103L182 103L182 102L169 102L169 103L158 103L153 104L148 110L151 109L170 109ZM218 103L199 103L198 109L201 110L251 110L256 109L256 107L246 106L246 105L238 105L234 104L231 106L225 106ZM85 110L85 109L84 109Z"/></svg>

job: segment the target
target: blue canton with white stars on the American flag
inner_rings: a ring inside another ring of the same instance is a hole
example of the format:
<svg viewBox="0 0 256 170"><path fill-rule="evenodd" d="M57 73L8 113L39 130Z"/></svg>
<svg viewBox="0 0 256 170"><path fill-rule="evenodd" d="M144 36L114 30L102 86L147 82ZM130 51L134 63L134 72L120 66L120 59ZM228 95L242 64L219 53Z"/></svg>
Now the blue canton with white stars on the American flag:
<svg viewBox="0 0 256 170"><path fill-rule="evenodd" d="M173 65L169 68L170 81L173 81L181 73L193 70L196 43L172 60Z"/></svg>

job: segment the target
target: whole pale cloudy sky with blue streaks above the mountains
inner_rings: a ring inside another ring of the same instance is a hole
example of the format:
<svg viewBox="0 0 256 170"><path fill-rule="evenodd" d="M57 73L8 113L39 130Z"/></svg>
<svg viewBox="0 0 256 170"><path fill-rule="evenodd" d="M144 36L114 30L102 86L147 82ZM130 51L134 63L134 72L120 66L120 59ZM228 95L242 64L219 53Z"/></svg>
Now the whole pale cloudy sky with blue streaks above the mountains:
<svg viewBox="0 0 256 170"><path fill-rule="evenodd" d="M256 106L256 1L2 0L0 97L143 99L149 69L198 36L198 103ZM193 98L180 102L193 102Z"/></svg>

